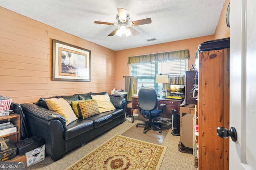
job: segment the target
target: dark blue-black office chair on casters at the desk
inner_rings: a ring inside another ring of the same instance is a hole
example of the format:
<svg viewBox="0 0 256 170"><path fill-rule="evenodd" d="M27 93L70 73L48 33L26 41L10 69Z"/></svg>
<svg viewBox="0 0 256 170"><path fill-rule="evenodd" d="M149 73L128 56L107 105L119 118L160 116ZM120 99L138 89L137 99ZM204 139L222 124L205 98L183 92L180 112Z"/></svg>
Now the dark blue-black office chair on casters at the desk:
<svg viewBox="0 0 256 170"><path fill-rule="evenodd" d="M162 114L164 105L161 105L162 110L156 109L157 107L157 95L156 91L153 88L140 88L138 92L139 96L139 104L140 104L140 112L142 113L145 119L148 119L145 123L138 123L136 127L139 125L145 125L143 133L146 133L146 129L148 127L154 126L159 129L159 133L162 133L161 123L157 121L156 117L159 117Z"/></svg>

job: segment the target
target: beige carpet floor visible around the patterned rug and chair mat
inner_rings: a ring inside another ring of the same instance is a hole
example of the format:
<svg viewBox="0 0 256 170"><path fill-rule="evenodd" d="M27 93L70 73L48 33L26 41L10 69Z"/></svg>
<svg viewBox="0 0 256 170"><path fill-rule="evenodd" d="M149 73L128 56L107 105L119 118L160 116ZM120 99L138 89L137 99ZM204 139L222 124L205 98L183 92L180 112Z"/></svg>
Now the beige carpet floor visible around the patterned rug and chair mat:
<svg viewBox="0 0 256 170"><path fill-rule="evenodd" d="M138 117L135 117L134 123L125 121L124 123L117 125L113 129L94 138L92 141L86 143L86 145L71 150L58 161L54 162L50 156L46 155L44 160L26 168L26 170L67 169L72 164L83 158L85 155L92 152L94 149L108 141L110 138L114 137L115 135L121 135L122 133L130 129L130 127L134 126L136 123L139 122L141 121L138 120ZM166 137L164 138L164 142L162 143L162 145L166 146L167 149L160 170L197 170L196 168L194 168L194 156L192 154L183 153L178 150L180 137L173 136L171 132L172 129L169 130Z"/></svg>

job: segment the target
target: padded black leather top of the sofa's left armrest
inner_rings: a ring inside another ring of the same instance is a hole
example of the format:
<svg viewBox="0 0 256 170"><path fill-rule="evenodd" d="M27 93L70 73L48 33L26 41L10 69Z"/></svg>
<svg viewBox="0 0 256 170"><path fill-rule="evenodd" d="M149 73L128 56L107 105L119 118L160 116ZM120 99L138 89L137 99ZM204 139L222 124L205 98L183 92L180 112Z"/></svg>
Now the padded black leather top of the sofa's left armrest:
<svg viewBox="0 0 256 170"><path fill-rule="evenodd" d="M34 115L35 117L38 117L40 119L51 121L51 120L59 120L63 127L66 127L66 119L54 111L50 111L42 106L38 106L36 104L21 104L22 110L26 113L29 113L31 115Z"/></svg>

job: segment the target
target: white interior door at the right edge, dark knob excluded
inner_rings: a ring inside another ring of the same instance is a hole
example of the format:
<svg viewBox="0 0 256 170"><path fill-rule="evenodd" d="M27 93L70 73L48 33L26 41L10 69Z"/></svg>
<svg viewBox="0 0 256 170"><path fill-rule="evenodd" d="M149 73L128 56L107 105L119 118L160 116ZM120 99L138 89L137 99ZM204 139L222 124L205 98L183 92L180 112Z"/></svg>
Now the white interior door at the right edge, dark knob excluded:
<svg viewBox="0 0 256 170"><path fill-rule="evenodd" d="M256 170L256 0L230 0L230 170Z"/></svg>

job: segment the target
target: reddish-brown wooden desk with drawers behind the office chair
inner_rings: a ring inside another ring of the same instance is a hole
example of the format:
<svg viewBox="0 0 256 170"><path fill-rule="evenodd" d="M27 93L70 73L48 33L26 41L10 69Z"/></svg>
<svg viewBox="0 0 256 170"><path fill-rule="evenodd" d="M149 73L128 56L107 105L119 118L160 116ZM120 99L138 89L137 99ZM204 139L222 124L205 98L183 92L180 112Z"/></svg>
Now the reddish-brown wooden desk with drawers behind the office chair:
<svg viewBox="0 0 256 170"><path fill-rule="evenodd" d="M166 99L166 98L158 98L158 109L162 109L160 104L166 104L165 109L160 117L171 119L172 118L172 109L176 109L177 113L180 112L180 104L183 100L176 99ZM140 109L140 102L138 97L132 97L132 123L134 122L133 111L134 109Z"/></svg>

